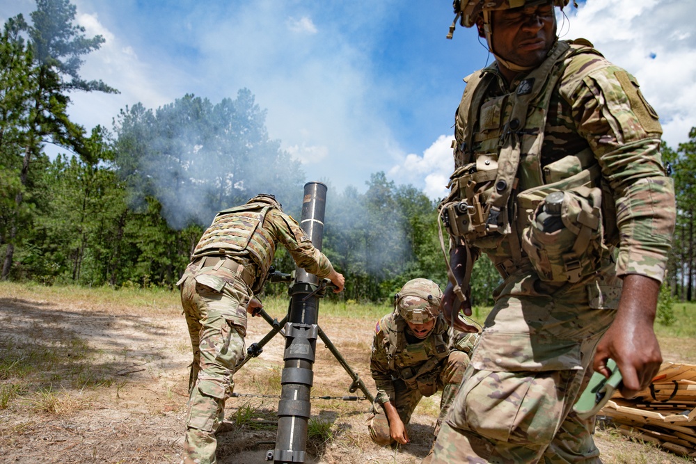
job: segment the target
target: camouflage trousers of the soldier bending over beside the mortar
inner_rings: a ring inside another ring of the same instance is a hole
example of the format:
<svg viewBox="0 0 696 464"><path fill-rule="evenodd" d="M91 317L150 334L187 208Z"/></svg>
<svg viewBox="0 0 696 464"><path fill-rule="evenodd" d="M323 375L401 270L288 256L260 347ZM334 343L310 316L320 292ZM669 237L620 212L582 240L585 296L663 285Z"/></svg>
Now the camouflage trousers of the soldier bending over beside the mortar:
<svg viewBox="0 0 696 464"><path fill-rule="evenodd" d="M181 285L193 349L184 464L216 462L215 432L224 419L225 401L234 389L235 366L246 355L248 287L244 282L233 282L225 283L218 291L196 282L189 273Z"/></svg>

